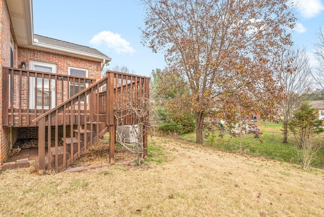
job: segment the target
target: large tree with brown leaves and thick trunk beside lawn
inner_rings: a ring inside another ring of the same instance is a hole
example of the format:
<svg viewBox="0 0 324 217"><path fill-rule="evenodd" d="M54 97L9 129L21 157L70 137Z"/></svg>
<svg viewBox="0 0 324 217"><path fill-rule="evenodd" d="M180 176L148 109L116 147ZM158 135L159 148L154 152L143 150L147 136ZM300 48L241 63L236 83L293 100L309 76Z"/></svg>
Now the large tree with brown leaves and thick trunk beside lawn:
<svg viewBox="0 0 324 217"><path fill-rule="evenodd" d="M291 44L286 30L295 17L289 0L140 2L146 10L143 44L165 52L168 71L190 89L178 104L195 113L197 143L203 142L207 115L234 122L273 114L280 87L271 58Z"/></svg>

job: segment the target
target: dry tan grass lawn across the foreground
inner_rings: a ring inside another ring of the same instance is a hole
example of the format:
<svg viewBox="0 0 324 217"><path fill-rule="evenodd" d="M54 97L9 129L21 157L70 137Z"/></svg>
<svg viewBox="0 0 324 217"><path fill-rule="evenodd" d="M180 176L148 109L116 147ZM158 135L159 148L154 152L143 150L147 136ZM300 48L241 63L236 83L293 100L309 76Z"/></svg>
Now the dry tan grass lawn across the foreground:
<svg viewBox="0 0 324 217"><path fill-rule="evenodd" d="M0 174L0 216L324 216L324 171L153 137L141 168Z"/></svg>

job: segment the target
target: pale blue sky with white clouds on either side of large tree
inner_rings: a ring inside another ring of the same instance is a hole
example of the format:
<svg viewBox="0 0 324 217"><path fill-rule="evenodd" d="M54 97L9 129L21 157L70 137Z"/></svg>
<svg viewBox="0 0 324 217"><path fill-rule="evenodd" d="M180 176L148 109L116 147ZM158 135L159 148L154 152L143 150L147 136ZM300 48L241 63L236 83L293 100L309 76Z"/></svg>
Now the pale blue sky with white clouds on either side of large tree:
<svg viewBox="0 0 324 217"><path fill-rule="evenodd" d="M295 0L291 0L295 1ZM316 32L324 27L324 0L300 0L293 40L312 52ZM141 44L143 8L134 0L33 0L34 33L98 49L115 65L127 66L137 75L150 76L165 66L164 55Z"/></svg>

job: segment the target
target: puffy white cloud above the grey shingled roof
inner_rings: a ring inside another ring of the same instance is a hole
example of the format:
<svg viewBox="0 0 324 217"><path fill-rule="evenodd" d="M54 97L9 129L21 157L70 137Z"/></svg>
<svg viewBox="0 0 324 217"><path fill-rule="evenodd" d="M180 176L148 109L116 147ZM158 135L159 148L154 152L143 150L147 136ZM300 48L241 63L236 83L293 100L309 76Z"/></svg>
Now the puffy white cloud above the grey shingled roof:
<svg viewBox="0 0 324 217"><path fill-rule="evenodd" d="M116 34L111 31L99 32L98 34L94 35L94 37L90 40L90 43L97 47L105 45L118 54L133 54L135 52L130 42L121 38L120 34Z"/></svg>

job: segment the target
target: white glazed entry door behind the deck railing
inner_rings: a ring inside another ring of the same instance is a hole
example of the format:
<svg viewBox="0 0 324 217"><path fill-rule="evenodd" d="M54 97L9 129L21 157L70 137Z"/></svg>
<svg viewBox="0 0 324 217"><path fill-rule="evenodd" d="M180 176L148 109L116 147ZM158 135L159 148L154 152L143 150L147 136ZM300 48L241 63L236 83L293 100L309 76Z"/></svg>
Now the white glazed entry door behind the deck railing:
<svg viewBox="0 0 324 217"><path fill-rule="evenodd" d="M56 73L56 64L47 63L47 62L38 62L38 61L29 61L29 69L35 71L42 71L44 73ZM51 94L50 93L50 85L49 79L44 79L44 89L42 87L43 82L42 78L37 78L37 87L35 86L35 78L29 78L29 108L35 108L35 100L36 100L36 108L42 109L43 102L43 91L44 91L44 109L48 110L55 107L55 80L51 80ZM35 92L37 93L35 99ZM51 107L49 106L51 102Z"/></svg>

